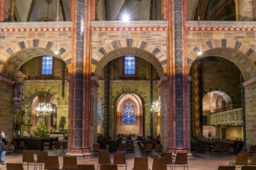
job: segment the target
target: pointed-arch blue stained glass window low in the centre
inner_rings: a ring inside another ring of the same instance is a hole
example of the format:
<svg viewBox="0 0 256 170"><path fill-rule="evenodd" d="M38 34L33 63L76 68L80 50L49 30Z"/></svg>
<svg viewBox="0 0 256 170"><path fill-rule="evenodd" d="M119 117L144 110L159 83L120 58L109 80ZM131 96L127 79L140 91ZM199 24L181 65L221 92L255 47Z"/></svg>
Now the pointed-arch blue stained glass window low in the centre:
<svg viewBox="0 0 256 170"><path fill-rule="evenodd" d="M123 106L122 124L136 124L135 107L130 101Z"/></svg>

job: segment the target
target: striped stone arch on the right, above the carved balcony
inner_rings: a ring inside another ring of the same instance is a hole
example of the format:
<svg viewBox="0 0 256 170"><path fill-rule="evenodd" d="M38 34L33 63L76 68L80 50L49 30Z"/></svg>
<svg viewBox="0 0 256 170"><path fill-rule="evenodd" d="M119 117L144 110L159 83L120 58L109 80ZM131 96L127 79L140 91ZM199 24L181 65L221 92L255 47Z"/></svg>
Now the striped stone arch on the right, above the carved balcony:
<svg viewBox="0 0 256 170"><path fill-rule="evenodd" d="M197 52L200 50L203 53L199 56ZM202 43L201 48L196 46L188 53L188 72L191 70L192 63L195 60L206 56L219 56L230 60L239 68L245 81L251 80L256 76L256 53L250 46L242 42L232 39L218 39Z"/></svg>

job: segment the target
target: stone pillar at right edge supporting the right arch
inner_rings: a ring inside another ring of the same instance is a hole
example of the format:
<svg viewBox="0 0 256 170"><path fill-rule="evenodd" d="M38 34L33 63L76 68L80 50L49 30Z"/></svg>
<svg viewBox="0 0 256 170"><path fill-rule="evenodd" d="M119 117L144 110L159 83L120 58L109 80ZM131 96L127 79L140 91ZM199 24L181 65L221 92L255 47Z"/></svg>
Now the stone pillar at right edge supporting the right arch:
<svg viewBox="0 0 256 170"><path fill-rule="evenodd" d="M244 100L246 101L245 107L245 128L246 128L246 146L250 148L255 145L256 141L256 78L247 80L244 85Z"/></svg>

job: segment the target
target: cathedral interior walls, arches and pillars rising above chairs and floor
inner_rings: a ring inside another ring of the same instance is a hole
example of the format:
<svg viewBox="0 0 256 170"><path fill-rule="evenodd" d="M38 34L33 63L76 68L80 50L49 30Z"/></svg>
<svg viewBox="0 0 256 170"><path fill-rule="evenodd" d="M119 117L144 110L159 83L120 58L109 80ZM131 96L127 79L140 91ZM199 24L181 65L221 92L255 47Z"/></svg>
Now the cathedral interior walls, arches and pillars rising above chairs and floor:
<svg viewBox="0 0 256 170"><path fill-rule="evenodd" d="M0 130L256 145L254 0L0 0ZM44 136L45 137L45 136ZM62 137L62 136L61 136Z"/></svg>

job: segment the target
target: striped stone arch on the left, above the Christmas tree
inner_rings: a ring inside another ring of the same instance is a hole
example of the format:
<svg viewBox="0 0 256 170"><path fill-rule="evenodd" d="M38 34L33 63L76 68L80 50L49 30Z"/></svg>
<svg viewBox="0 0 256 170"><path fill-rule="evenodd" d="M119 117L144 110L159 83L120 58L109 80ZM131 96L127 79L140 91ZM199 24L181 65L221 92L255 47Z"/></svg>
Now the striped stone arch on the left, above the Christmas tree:
<svg viewBox="0 0 256 170"><path fill-rule="evenodd" d="M59 53L55 54L54 49L57 49ZM54 42L32 39L10 46L4 53L0 54L1 75L12 80L14 73L19 70L19 67L23 63L26 63L29 59L43 55L50 55L62 59L67 65L67 70L71 72L71 54L66 49L58 46Z"/></svg>

